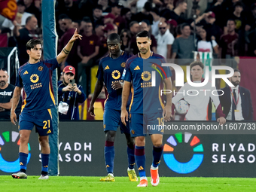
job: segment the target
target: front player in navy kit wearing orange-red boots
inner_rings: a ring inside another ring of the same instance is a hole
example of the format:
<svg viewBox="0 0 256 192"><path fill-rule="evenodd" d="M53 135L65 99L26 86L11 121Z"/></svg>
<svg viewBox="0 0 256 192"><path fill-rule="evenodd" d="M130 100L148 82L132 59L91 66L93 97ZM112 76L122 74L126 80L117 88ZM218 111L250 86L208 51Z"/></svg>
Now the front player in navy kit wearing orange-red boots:
<svg viewBox="0 0 256 192"><path fill-rule="evenodd" d="M172 117L172 94L166 95L166 105L160 98L161 83L166 90L172 90L171 71L161 67L165 62L163 56L151 52L151 36L147 31L136 35L139 53L126 61L123 71L123 94L121 120L128 123L126 104L133 85L133 98L130 104L130 130L135 137L135 159L139 169L140 182L138 187L147 187L148 180L145 172L145 136L151 135L153 144L153 163L151 165L151 184L159 184L158 166L163 154L163 130L147 130L148 126L160 126L163 120L169 121ZM154 77L155 84L151 78Z"/></svg>

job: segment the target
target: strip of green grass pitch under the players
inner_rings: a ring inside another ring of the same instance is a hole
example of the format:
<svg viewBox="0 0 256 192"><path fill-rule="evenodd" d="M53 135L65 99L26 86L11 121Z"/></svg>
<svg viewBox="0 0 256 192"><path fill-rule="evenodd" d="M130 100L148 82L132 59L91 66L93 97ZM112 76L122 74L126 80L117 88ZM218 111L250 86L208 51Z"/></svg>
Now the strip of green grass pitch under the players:
<svg viewBox="0 0 256 192"><path fill-rule="evenodd" d="M160 184L152 187L136 187L139 182L130 182L128 177L115 177L115 182L102 182L99 177L50 177L38 180L39 176L14 179L11 175L0 176L0 191L60 192L60 191L256 191L256 178L166 178L160 177Z"/></svg>

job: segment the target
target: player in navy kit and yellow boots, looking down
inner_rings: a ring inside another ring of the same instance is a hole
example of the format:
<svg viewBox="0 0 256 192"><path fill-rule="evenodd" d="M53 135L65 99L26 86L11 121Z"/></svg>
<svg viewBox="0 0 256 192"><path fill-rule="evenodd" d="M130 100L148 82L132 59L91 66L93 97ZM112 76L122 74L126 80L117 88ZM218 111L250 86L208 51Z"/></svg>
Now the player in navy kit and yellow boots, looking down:
<svg viewBox="0 0 256 192"><path fill-rule="evenodd" d="M99 61L99 69L97 73L97 82L93 98L90 102L89 113L95 116L93 104L96 101L99 93L102 90L103 83L108 90L108 99L105 102L105 111L103 115L103 128L105 131L105 166L108 175L101 178L100 181L114 181L114 139L117 133L117 128L120 126L121 133L126 136L127 154L128 154L128 176L130 181L138 181L136 172L134 170L134 139L130 136L130 126L121 123L120 109L122 103L122 80L121 75L129 59L129 54L120 49L120 36L117 33L108 35L107 44L109 54L102 57ZM128 103L130 104L130 102ZM129 105L128 105L129 106Z"/></svg>

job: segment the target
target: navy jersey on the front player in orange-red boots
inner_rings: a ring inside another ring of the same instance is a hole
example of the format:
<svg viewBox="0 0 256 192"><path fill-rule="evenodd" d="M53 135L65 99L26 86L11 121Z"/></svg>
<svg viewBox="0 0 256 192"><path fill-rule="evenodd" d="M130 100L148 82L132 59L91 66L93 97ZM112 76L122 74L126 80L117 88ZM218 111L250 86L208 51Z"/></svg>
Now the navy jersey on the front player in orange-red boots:
<svg viewBox="0 0 256 192"><path fill-rule="evenodd" d="M163 79L172 76L168 67L162 67L162 63L165 62L163 56L153 52L148 59L142 59L138 53L126 61L122 78L133 84L130 113L152 114L163 111L164 105L160 89L163 87ZM153 72L155 81L152 81ZM155 85L152 82L155 82Z"/></svg>

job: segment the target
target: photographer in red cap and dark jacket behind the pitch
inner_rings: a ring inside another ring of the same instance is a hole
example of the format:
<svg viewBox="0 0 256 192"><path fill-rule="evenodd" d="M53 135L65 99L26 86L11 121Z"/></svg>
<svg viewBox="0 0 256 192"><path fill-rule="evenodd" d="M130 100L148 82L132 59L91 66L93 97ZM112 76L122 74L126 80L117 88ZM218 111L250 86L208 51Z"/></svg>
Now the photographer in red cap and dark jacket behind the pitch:
<svg viewBox="0 0 256 192"><path fill-rule="evenodd" d="M75 84L75 68L63 69L63 81L58 82L59 120L79 120L78 102L86 99L83 87Z"/></svg>

